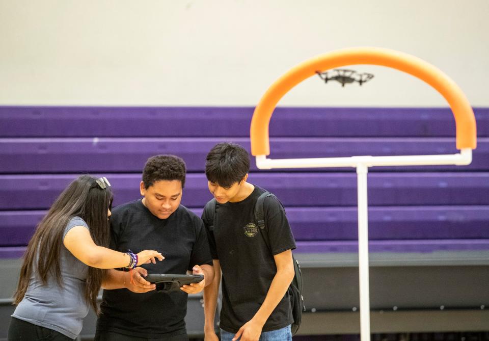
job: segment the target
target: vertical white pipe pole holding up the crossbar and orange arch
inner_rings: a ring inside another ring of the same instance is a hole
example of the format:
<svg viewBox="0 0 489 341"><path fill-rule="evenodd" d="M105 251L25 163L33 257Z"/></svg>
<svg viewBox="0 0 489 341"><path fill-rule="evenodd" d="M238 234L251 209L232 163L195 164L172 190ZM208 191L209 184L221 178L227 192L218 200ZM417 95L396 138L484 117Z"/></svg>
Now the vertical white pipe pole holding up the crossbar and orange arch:
<svg viewBox="0 0 489 341"><path fill-rule="evenodd" d="M358 186L358 266L360 283L360 339L370 341L370 295L368 276L368 167L357 165Z"/></svg>

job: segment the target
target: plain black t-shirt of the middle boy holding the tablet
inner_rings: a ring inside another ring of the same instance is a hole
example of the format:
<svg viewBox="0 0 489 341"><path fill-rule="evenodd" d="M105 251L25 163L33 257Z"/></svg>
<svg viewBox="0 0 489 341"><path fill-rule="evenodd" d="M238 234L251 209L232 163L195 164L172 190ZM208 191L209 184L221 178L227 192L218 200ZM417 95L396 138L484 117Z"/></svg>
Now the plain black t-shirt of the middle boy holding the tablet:
<svg viewBox="0 0 489 341"><path fill-rule="evenodd" d="M154 216L141 200L117 206L111 217L111 249L161 252L164 260L142 265L148 274L185 274L195 265L212 265L204 224L182 205L167 219ZM98 330L148 338L173 336L185 332L187 294L104 290L100 309Z"/></svg>

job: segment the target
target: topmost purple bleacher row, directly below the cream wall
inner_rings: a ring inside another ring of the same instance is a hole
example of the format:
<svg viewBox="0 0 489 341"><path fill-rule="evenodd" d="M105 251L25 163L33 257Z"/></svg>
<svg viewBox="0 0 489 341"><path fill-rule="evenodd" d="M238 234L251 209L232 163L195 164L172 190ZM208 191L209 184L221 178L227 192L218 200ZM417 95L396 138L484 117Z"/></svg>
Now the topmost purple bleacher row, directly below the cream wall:
<svg viewBox="0 0 489 341"><path fill-rule="evenodd" d="M251 107L0 107L3 137L248 137ZM479 136L489 109L475 108ZM449 108L277 108L270 136L450 137Z"/></svg>

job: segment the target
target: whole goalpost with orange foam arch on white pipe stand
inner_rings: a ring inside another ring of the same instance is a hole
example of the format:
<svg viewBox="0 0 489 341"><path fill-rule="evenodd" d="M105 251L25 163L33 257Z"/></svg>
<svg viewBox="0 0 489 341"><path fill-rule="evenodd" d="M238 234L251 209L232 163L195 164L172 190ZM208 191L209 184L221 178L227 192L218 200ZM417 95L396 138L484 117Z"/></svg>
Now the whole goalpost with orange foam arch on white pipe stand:
<svg viewBox="0 0 489 341"><path fill-rule="evenodd" d="M405 156L350 156L345 158L267 159L270 154L268 125L279 100L306 78L332 68L369 64L409 73L436 89L447 100L455 118L456 154ZM476 147L474 112L460 88L433 65L395 50L374 47L346 48L307 60L280 77L260 99L251 120L251 152L259 169L354 167L358 183L358 245L360 278L360 335L370 340L368 271L367 173L375 166L469 165Z"/></svg>

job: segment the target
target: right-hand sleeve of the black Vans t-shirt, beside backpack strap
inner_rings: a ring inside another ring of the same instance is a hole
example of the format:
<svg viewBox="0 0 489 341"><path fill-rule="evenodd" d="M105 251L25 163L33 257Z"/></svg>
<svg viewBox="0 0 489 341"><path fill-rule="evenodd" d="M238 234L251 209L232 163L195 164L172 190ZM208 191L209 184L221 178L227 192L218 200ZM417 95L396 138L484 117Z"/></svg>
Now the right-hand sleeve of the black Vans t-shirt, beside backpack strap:
<svg viewBox="0 0 489 341"><path fill-rule="evenodd" d="M267 243L273 255L295 249L295 240L289 221L280 201L275 197L266 197L264 202L265 229Z"/></svg>

